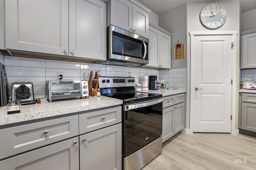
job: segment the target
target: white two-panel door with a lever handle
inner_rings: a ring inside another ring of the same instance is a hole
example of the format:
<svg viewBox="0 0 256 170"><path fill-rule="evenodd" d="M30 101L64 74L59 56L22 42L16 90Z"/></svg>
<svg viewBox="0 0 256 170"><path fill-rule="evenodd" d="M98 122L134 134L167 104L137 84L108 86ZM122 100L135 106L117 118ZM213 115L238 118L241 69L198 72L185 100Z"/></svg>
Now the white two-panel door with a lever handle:
<svg viewBox="0 0 256 170"><path fill-rule="evenodd" d="M230 133L232 35L192 35L190 41L193 132Z"/></svg>

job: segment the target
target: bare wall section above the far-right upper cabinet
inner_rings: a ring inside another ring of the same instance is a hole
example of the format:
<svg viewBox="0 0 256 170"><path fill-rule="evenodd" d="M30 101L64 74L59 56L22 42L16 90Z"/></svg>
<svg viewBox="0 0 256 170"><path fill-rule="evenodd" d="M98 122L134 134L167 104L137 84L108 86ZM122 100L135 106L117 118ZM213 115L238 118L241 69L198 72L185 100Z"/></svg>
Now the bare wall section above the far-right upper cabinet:
<svg viewBox="0 0 256 170"><path fill-rule="evenodd" d="M256 9L243 12L241 16L241 32L256 29Z"/></svg>

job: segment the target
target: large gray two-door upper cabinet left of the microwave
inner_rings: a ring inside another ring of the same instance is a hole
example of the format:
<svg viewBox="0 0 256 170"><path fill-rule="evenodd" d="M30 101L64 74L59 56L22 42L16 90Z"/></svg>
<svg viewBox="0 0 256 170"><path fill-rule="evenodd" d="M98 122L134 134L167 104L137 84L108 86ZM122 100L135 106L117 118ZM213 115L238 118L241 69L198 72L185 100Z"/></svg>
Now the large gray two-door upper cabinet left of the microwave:
<svg viewBox="0 0 256 170"><path fill-rule="evenodd" d="M106 60L106 3L5 1L6 49Z"/></svg>

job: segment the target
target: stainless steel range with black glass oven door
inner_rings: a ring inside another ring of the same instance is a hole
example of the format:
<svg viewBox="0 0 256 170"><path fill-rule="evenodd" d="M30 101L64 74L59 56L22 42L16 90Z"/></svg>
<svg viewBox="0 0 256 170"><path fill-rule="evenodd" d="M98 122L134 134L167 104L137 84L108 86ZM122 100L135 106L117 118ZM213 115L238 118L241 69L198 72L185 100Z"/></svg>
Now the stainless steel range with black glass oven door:
<svg viewBox="0 0 256 170"><path fill-rule="evenodd" d="M140 170L162 152L162 94L135 92L134 77L99 77L99 86L123 100L123 169Z"/></svg>

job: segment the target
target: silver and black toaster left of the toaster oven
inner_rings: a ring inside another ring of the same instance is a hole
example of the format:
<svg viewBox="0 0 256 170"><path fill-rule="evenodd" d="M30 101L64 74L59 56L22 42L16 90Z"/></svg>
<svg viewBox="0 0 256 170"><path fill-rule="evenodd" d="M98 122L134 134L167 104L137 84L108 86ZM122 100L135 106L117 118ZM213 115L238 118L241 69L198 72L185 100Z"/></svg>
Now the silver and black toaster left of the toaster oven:
<svg viewBox="0 0 256 170"><path fill-rule="evenodd" d="M35 104L34 90L32 82L12 83L12 102L18 101L21 105Z"/></svg>

